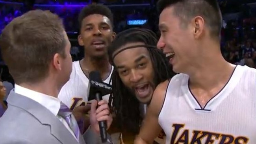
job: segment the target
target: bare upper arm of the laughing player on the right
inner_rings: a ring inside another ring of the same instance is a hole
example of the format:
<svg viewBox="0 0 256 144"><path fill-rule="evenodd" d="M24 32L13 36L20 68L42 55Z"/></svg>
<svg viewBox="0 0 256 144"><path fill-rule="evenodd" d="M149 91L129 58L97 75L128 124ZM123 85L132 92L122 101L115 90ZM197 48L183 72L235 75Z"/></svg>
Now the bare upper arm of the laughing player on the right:
<svg viewBox="0 0 256 144"><path fill-rule="evenodd" d="M168 83L169 81L165 81L156 87L134 144L152 144L154 139L159 135L161 127L158 124L158 115L165 99Z"/></svg>

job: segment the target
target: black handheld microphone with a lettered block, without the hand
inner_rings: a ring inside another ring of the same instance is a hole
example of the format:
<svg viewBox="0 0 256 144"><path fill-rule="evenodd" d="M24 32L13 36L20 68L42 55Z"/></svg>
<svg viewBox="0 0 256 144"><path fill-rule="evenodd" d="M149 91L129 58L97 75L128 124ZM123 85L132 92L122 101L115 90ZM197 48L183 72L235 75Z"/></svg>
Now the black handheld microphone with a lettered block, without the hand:
<svg viewBox="0 0 256 144"><path fill-rule="evenodd" d="M93 71L89 73L89 86L88 86L88 101L95 99L97 102L102 100L102 96L110 94L112 87L111 85L104 83L100 78L100 72ZM107 142L107 122L106 120L99 122L100 137L101 141Z"/></svg>

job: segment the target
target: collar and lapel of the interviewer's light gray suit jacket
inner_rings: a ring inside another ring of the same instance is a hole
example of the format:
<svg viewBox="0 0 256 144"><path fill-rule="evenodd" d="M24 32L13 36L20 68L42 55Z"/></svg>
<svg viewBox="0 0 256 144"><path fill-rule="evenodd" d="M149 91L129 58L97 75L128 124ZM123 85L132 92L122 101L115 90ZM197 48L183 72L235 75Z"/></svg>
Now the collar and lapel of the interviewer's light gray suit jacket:
<svg viewBox="0 0 256 144"><path fill-rule="evenodd" d="M31 100L25 96L15 93L11 90L8 98L8 105L13 105L24 109L32 114L41 124L50 126L50 133L56 137L63 144L77 144L76 138L69 132L69 130L61 123L61 121L54 116L48 109L40 103ZM83 144L83 143L80 143Z"/></svg>

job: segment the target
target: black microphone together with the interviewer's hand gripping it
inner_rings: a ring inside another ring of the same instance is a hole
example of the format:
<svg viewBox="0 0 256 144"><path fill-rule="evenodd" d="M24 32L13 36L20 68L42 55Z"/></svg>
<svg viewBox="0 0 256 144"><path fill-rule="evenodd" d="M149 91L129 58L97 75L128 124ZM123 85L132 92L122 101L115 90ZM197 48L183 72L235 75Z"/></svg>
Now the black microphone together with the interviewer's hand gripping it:
<svg viewBox="0 0 256 144"><path fill-rule="evenodd" d="M88 100L95 101L91 104L90 121L96 132L100 132L102 142L107 142L107 129L112 123L108 102L102 100L102 96L111 93L111 85L103 83L99 72L89 74Z"/></svg>

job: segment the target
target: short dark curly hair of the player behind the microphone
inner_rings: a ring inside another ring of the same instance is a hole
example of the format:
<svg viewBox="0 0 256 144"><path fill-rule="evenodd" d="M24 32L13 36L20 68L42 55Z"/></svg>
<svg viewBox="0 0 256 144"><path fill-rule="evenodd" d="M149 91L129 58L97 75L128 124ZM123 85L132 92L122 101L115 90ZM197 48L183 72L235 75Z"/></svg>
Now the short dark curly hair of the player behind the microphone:
<svg viewBox="0 0 256 144"><path fill-rule="evenodd" d="M82 27L83 19L93 14L100 14L108 17L111 22L111 26L113 28L113 13L111 12L111 10L103 4L93 3L86 7L83 7L83 9L80 11L78 16L79 29L81 29Z"/></svg>

